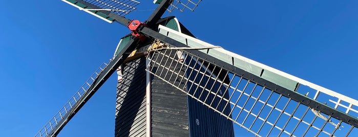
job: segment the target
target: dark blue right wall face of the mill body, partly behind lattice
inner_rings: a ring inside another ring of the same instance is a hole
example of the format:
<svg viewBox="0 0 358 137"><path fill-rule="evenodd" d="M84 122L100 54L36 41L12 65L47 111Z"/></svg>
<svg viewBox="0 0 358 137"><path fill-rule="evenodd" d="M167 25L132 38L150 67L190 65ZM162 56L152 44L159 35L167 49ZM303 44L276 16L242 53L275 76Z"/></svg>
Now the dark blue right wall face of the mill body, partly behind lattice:
<svg viewBox="0 0 358 137"><path fill-rule="evenodd" d="M207 66L208 64L200 66L201 62L202 61L197 58L193 58L192 60L191 56L185 58L185 64L191 66L187 68L187 72L192 72L191 74L186 73L186 78L195 83L200 83L199 86L193 84L193 82L188 82L186 88L189 90L187 92L206 104L217 106L217 110L223 112L225 115L229 115L231 109L230 107L225 107L227 102L220 100L220 98L215 97L213 94L209 94L206 91L204 92L204 88L211 89L212 92L216 91L217 95L223 96L226 99L229 98L228 92L225 92L227 89L225 85L207 77L210 76L210 73L205 71L206 67L208 67L208 70L213 70L215 67ZM205 77L204 74L193 71L193 69L206 72ZM212 73L213 75L219 76L218 79L222 80L226 78L226 81L228 81L228 77L225 76L227 75L225 71L214 70ZM222 81L225 83L225 80ZM198 102L192 97L188 97L188 110L190 136L234 136L233 122L222 117L220 113L215 112L213 109L203 105L203 103Z"/></svg>

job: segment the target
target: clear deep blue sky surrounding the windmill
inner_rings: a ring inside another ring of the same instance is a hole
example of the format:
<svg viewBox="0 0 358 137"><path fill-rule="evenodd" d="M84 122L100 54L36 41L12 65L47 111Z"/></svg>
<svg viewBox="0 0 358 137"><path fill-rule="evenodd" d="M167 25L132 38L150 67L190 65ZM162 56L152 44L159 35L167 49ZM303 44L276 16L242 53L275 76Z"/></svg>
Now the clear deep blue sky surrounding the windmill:
<svg viewBox="0 0 358 137"><path fill-rule="evenodd" d="M201 40L358 99L357 5L203 1L170 15ZM0 18L0 136L33 136L130 33L60 0L5 0ZM115 93L113 75L59 136L113 136Z"/></svg>

